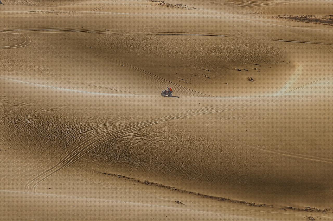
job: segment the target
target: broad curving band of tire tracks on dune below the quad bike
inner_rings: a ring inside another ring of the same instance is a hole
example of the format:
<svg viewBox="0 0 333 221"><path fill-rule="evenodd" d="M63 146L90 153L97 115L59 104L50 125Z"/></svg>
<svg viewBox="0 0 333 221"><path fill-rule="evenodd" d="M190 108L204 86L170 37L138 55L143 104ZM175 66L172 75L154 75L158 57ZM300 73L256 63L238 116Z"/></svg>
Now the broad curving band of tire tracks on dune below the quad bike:
<svg viewBox="0 0 333 221"><path fill-rule="evenodd" d="M103 144L111 139L114 139L116 137L119 137L121 135L136 131L138 129L141 129L141 128L144 128L147 126L151 126L151 125L154 125L157 123L161 123L161 122L164 122L167 120L172 120L172 119L211 114L211 113L217 113L217 112L222 112L222 111L232 111L232 110L238 110L238 109L243 109L243 108L248 108L248 107L273 104L273 103L277 103L277 102L292 101L292 100L297 100L297 99L300 99L300 98L296 98L296 99L277 98L277 99L273 99L273 101L270 101L270 102L267 102L267 101L263 102L263 100L265 100L265 99L262 99L262 100L258 100L258 101L245 102L245 103L242 103L233 108L228 108L228 107L234 106L234 105L209 106L209 107L205 107L205 108L201 108L201 109L195 109L192 111L185 111L185 112L181 112L178 114L169 115L169 116L158 118L158 119L142 121L142 122L138 122L138 123L132 123L132 124L128 124L128 125L125 125L122 127L112 129L112 130L105 131L103 133L100 133L98 135L95 135L95 136L87 139L86 141L81 143L79 146L74 148L70 153L68 153L67 156L65 156L65 158L63 158L58 164L56 164L55 166L51 167L50 169L42 172L40 175L38 175L37 177L35 177L31 181L29 181L26 184L26 191L33 191L33 192L36 191L39 183L41 183L48 177L52 176L53 174L57 173L58 171L70 166L71 164L73 164L74 162L76 162L81 157L83 157L88 152L92 151L93 149L97 148L101 144ZM255 102L257 102L258 104L253 104ZM222 108L222 110L221 110L221 108Z"/></svg>

